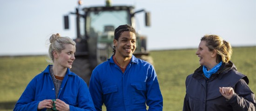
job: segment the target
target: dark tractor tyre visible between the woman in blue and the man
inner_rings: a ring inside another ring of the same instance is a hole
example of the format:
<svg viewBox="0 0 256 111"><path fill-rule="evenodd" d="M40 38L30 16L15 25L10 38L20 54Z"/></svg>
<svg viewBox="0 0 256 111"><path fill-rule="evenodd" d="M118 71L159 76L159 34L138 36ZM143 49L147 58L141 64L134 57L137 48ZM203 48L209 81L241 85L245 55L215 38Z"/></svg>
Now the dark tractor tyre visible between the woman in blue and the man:
<svg viewBox="0 0 256 111"><path fill-rule="evenodd" d="M90 63L88 59L76 58L70 70L81 77L89 86L92 70L90 69Z"/></svg>

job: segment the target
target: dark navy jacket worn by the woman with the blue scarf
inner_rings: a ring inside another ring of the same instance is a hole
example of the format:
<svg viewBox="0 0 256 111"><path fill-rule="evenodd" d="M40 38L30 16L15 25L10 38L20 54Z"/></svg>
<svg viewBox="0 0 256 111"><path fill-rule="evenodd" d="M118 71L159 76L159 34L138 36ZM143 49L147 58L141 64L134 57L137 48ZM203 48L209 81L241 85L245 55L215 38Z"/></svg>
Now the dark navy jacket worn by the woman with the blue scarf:
<svg viewBox="0 0 256 111"><path fill-rule="evenodd" d="M236 71L232 62L207 79L202 66L186 79L186 95L183 111L255 111L256 99L249 89L246 75ZM222 96L219 87L233 87L235 94L229 100Z"/></svg>

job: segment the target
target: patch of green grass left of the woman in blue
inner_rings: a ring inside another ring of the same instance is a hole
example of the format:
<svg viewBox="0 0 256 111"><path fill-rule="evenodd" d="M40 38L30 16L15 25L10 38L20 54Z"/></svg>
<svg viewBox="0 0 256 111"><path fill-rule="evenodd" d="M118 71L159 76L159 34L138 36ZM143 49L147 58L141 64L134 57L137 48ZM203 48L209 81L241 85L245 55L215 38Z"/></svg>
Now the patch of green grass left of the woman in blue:
<svg viewBox="0 0 256 111"><path fill-rule="evenodd" d="M0 102L17 101L28 82L43 71L46 56L0 57Z"/></svg>

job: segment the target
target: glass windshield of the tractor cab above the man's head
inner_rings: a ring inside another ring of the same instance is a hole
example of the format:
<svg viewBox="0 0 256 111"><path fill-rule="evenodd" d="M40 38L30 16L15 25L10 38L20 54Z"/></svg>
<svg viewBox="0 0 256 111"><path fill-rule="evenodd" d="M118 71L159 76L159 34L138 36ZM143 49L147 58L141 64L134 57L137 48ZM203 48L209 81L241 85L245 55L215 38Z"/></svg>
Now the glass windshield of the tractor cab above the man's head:
<svg viewBox="0 0 256 111"><path fill-rule="evenodd" d="M119 25L131 25L128 10L88 12L86 19L86 29L89 36L92 33L97 33L100 36L104 32L115 31Z"/></svg>

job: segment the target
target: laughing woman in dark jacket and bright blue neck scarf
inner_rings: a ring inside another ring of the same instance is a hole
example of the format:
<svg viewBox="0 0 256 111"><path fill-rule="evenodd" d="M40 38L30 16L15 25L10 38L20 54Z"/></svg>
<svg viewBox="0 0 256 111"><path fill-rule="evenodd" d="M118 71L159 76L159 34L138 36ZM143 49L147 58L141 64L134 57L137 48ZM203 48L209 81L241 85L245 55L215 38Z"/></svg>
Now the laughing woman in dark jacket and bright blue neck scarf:
<svg viewBox="0 0 256 111"><path fill-rule="evenodd" d="M229 61L231 45L205 35L196 51L200 67L186 79L183 111L255 111L256 99L246 75Z"/></svg>

